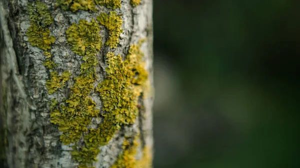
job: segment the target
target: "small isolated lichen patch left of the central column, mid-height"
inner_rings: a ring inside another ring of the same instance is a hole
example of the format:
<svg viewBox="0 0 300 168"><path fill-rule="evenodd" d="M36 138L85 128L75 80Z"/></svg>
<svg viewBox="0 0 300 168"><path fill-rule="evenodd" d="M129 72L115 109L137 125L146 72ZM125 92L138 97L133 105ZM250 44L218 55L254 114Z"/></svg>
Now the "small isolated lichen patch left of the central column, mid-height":
<svg viewBox="0 0 300 168"><path fill-rule="evenodd" d="M50 72L50 79L46 81L46 88L49 94L53 94L59 88L64 86L64 83L69 79L71 73L68 71L62 72L62 75L58 75L58 72L51 71Z"/></svg>

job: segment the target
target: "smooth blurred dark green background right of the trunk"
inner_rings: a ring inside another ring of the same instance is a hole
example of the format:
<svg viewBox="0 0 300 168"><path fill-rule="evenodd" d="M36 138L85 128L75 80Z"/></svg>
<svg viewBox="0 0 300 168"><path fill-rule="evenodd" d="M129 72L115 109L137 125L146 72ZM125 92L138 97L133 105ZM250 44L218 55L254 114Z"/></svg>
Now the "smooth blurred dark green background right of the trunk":
<svg viewBox="0 0 300 168"><path fill-rule="evenodd" d="M154 168L300 168L300 0L154 0Z"/></svg>

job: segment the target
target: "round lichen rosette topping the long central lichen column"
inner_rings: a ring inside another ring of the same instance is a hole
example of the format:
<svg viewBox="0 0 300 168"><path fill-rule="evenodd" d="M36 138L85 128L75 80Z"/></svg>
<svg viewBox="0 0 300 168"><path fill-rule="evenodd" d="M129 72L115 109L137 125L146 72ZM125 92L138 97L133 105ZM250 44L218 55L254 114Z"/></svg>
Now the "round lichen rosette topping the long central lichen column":
<svg viewBox="0 0 300 168"><path fill-rule="evenodd" d="M72 46L71 50L78 54L84 55L85 52L95 53L102 45L99 36L99 25L94 19L88 23L86 20L79 20L79 25L73 23L66 30L67 42Z"/></svg>

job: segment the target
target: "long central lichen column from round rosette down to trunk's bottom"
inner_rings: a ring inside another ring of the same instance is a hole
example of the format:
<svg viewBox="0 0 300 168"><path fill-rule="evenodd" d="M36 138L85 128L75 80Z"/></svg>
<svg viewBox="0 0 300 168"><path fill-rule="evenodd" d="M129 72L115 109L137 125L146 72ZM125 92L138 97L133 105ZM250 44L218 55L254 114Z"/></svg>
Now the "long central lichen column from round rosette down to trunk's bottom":
<svg viewBox="0 0 300 168"><path fill-rule="evenodd" d="M75 83L71 87L71 94L65 105L60 105L51 112L51 123L59 126L58 130L62 131L60 141L65 145L78 142L83 133L88 133L87 126L91 122L91 117L97 117L100 112L95 108L95 102L88 97L94 89L93 83L96 78L95 56L102 45L98 33L99 25L94 20L90 23L79 20L78 25L72 24L66 30L71 50L82 55L83 63L80 65L79 76L74 78ZM89 130L89 133L92 134L92 130ZM88 149L82 147L78 151L77 146L73 146L74 151L71 155L80 162L79 168L89 166L99 153L97 148L88 147Z"/></svg>

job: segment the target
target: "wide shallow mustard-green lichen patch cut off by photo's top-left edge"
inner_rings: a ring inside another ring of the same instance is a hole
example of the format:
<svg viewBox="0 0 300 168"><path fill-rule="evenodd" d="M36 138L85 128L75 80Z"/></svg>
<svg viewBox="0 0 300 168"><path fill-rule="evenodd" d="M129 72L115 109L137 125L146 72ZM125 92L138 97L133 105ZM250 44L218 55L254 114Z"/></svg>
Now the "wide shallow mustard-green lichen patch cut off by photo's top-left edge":
<svg viewBox="0 0 300 168"><path fill-rule="evenodd" d="M72 12L79 9L95 11L94 0L57 0L57 5L64 10L70 9Z"/></svg>

